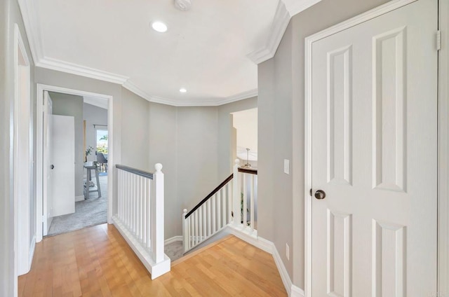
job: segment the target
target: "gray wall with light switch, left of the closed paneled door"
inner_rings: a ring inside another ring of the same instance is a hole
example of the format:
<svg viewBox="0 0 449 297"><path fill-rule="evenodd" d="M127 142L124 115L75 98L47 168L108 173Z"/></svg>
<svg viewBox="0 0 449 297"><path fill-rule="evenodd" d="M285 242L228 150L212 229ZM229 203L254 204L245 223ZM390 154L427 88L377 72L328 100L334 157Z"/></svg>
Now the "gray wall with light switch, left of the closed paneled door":
<svg viewBox="0 0 449 297"><path fill-rule="evenodd" d="M274 242L293 284L300 288L304 288L304 38L386 2L323 0L311 6L290 20L274 58L258 67L259 214L271 220L271 224L260 221L258 232ZM292 162L289 176L283 174L283 158ZM286 243L293 243L290 261L285 257Z"/></svg>

